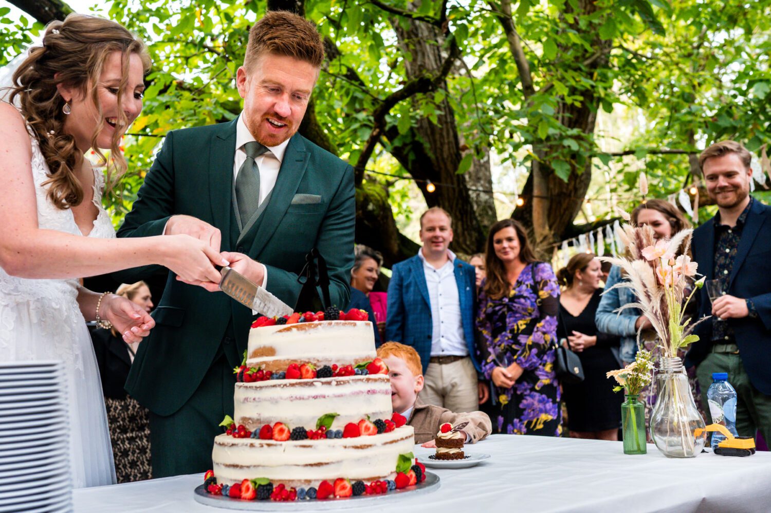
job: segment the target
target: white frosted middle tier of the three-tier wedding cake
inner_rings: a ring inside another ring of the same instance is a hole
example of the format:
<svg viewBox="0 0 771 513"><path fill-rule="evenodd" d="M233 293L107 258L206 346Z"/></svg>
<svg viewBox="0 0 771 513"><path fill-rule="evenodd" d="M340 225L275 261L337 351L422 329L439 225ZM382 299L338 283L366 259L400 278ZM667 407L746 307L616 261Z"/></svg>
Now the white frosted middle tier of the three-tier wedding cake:
<svg viewBox="0 0 771 513"><path fill-rule="evenodd" d="M390 419L391 381L385 374L316 378L314 380L268 380L236 383L234 420L255 430L264 424L283 422L291 429L315 429L325 413L339 413L332 429L348 422Z"/></svg>

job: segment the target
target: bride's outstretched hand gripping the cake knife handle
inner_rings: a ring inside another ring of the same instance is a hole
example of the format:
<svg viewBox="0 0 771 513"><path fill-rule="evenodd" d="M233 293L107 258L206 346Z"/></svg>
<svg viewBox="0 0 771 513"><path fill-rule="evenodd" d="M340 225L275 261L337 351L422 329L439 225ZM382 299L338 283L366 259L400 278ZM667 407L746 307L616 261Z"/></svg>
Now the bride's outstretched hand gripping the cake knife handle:
<svg viewBox="0 0 771 513"><path fill-rule="evenodd" d="M200 282L220 282L220 273L214 265L227 265L219 251L190 235L164 235L167 258L163 265L170 268L181 281L198 285Z"/></svg>

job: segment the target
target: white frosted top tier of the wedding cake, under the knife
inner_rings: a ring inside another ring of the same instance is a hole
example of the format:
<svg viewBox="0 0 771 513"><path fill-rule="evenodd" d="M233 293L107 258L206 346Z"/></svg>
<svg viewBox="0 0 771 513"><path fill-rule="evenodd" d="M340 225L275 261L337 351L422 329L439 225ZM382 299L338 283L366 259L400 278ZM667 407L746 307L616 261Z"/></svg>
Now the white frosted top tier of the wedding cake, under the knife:
<svg viewBox="0 0 771 513"><path fill-rule="evenodd" d="M375 359L375 336L369 321L298 322L251 329L247 349L248 366L274 360L342 366Z"/></svg>

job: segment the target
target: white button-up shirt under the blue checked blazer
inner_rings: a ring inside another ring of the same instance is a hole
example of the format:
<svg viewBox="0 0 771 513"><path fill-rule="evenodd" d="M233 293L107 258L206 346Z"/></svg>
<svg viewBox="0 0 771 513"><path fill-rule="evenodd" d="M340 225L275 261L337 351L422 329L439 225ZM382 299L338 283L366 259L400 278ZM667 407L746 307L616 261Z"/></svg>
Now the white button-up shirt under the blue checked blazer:
<svg viewBox="0 0 771 513"><path fill-rule="evenodd" d="M426 262L423 248L418 257L423 261L423 275L429 289L433 334L431 356L468 356L463 318L460 313L460 295L455 280L455 253L447 250L448 261L441 268Z"/></svg>

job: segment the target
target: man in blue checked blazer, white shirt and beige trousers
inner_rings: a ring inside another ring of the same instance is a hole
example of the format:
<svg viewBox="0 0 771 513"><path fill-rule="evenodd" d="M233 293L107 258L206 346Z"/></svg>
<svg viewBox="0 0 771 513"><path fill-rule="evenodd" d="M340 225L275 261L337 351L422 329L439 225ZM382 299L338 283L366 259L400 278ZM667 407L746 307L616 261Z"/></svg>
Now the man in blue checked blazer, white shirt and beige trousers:
<svg viewBox="0 0 771 513"><path fill-rule="evenodd" d="M487 400L476 361L476 272L449 251L452 218L434 207L420 218L423 248L394 265L385 339L413 346L423 363L423 403L474 411Z"/></svg>

